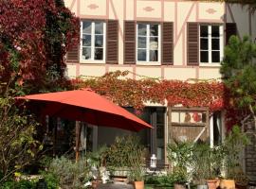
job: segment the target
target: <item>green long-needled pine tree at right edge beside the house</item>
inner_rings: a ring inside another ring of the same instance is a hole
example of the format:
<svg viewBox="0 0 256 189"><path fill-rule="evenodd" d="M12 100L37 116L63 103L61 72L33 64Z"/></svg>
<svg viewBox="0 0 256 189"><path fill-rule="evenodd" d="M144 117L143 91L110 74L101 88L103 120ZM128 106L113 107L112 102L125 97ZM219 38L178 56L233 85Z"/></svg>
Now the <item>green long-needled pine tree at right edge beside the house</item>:
<svg viewBox="0 0 256 189"><path fill-rule="evenodd" d="M225 47L220 72L241 110L253 117L256 129L256 44L246 36L241 41L231 36Z"/></svg>

